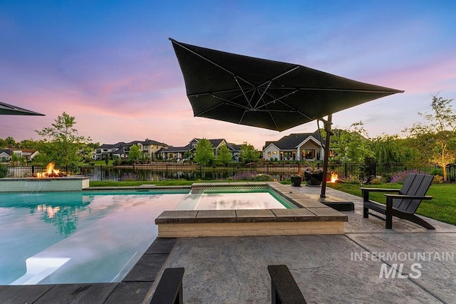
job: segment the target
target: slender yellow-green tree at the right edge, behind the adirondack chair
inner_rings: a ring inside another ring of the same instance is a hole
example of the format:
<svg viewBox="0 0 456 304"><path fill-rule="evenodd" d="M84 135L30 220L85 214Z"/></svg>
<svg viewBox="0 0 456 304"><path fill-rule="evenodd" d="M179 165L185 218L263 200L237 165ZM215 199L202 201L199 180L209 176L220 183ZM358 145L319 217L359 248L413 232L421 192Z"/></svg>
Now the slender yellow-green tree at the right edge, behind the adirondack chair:
<svg viewBox="0 0 456 304"><path fill-rule="evenodd" d="M456 112L452 110L452 99L432 97L432 112L418 112L426 122L417 122L406 128L420 146L420 151L427 153L429 162L438 164L443 169L443 180L447 181L447 165L456 161Z"/></svg>

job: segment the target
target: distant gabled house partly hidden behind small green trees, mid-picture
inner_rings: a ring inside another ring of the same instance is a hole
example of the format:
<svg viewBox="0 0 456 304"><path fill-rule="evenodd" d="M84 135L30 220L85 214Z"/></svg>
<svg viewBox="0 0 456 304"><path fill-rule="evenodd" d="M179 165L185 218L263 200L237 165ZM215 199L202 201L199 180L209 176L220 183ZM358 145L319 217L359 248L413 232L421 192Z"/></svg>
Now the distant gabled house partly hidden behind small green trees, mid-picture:
<svg viewBox="0 0 456 304"><path fill-rule="evenodd" d="M177 159L178 161L185 159L186 152L195 152L197 143L200 141L200 138L192 139L187 145L183 147L164 147L160 150L160 155L162 159ZM222 145L228 147L229 152L232 154L232 160L237 161L239 159L239 153L241 152L241 146L227 142L224 139L209 140L212 147L214 147L214 155L219 154L219 148Z"/></svg>

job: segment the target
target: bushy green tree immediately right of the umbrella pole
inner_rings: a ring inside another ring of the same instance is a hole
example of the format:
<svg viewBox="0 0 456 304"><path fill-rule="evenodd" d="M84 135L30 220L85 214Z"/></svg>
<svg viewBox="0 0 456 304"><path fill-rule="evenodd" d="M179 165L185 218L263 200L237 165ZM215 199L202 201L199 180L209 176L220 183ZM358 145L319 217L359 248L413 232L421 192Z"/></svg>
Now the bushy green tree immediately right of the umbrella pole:
<svg viewBox="0 0 456 304"><path fill-rule="evenodd" d="M347 130L334 130L330 143L336 153L333 159L339 162L363 162L366 157L373 157L370 144L362 121L354 122Z"/></svg>

